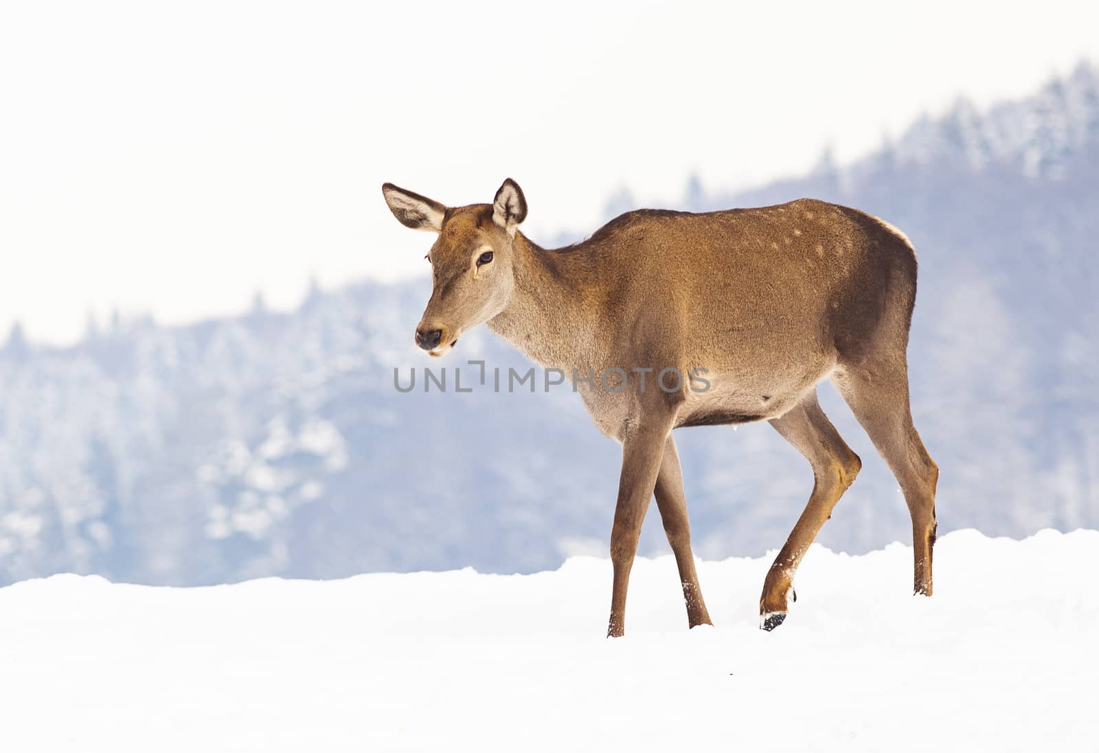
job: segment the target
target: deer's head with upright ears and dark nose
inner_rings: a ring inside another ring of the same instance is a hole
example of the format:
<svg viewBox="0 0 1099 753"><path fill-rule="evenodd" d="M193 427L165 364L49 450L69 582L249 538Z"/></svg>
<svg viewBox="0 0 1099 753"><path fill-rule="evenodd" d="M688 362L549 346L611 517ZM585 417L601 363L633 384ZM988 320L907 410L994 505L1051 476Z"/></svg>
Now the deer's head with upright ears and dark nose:
<svg viewBox="0 0 1099 753"><path fill-rule="evenodd" d="M514 237L526 218L526 199L511 178L490 204L444 207L388 182L381 192L401 224L439 235L428 252L433 288L415 343L430 355L446 355L463 332L492 319L511 300Z"/></svg>

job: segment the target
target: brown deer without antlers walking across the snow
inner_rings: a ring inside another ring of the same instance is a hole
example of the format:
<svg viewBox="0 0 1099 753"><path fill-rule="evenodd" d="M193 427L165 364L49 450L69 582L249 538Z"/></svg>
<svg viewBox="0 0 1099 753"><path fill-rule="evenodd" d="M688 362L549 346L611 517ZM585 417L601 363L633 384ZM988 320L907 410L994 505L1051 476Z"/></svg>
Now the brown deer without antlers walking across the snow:
<svg viewBox="0 0 1099 753"><path fill-rule="evenodd" d="M630 568L654 494L688 623L710 624L671 430L750 421L768 421L815 478L759 599L761 627L782 623L802 555L862 467L817 402L825 378L900 484L912 516L914 589L931 595L939 468L909 408L917 265L899 230L799 199L699 214L626 212L581 243L546 250L519 232L526 200L510 178L492 203L467 207L392 184L381 190L404 225L439 235L428 254L434 287L415 330L421 348L444 355L487 323L574 385L577 375L611 375L595 389L577 385L599 430L622 444L608 635L625 627Z"/></svg>

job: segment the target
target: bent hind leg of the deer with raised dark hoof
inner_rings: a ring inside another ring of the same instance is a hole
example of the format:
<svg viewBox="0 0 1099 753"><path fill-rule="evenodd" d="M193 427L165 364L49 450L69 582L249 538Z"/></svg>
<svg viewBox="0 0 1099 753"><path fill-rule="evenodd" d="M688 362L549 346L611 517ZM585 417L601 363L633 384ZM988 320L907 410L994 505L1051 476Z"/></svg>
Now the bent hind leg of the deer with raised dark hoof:
<svg viewBox="0 0 1099 753"><path fill-rule="evenodd" d="M787 599L793 596L793 574L801 557L863 467L858 455L824 416L817 401L817 390L773 419L770 425L806 456L813 468L814 483L804 511L764 580L759 597L759 627L764 630L774 630L786 619Z"/></svg>

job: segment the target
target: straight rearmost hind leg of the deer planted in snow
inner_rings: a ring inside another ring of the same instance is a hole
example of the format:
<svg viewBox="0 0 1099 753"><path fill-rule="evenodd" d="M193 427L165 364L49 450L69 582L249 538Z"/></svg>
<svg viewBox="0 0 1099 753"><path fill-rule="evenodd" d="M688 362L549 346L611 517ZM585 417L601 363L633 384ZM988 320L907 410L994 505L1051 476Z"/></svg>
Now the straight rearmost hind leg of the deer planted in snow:
<svg viewBox="0 0 1099 753"><path fill-rule="evenodd" d="M833 381L900 484L912 516L913 591L931 596L939 466L912 424L903 356L845 366Z"/></svg>

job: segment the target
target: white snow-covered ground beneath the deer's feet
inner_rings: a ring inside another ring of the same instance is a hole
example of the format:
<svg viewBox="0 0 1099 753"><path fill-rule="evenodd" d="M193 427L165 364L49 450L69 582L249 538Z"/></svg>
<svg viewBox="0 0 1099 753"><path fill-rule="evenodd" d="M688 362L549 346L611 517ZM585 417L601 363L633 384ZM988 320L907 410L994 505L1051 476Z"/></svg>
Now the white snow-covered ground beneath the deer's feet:
<svg viewBox="0 0 1099 753"><path fill-rule="evenodd" d="M604 560L153 588L70 575L0 589L4 751L1099 749L1099 532L814 547L757 629L768 561L640 560L602 638Z"/></svg>

